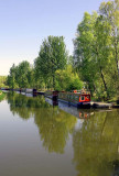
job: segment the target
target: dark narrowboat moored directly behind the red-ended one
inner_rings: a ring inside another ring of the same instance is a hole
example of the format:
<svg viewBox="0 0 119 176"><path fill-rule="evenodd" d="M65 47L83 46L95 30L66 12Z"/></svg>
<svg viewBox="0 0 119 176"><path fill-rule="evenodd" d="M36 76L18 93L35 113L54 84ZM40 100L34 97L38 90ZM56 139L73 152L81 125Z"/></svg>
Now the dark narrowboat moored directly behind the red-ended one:
<svg viewBox="0 0 119 176"><path fill-rule="evenodd" d="M47 98L51 98L54 101L56 101L57 97L58 97L58 91L56 91L56 90L53 90L53 91L52 90L47 90L47 91L45 91L44 96L47 97Z"/></svg>

